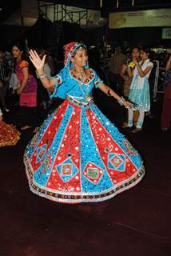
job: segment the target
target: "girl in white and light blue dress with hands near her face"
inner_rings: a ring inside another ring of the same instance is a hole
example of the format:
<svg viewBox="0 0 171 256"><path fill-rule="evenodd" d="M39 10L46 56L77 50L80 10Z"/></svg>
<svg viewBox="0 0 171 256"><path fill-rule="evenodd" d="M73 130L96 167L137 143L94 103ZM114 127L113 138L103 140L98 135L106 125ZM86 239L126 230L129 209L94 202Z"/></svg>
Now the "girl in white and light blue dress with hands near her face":
<svg viewBox="0 0 171 256"><path fill-rule="evenodd" d="M134 110L138 110L139 115L133 133L138 133L142 129L145 112L150 110L149 95L149 74L153 69L153 62L149 60L149 48L142 46L140 51L141 62L133 58L135 68L133 70L133 80L129 90L129 101L134 103ZM133 109L128 110L128 122L123 128L133 127Z"/></svg>

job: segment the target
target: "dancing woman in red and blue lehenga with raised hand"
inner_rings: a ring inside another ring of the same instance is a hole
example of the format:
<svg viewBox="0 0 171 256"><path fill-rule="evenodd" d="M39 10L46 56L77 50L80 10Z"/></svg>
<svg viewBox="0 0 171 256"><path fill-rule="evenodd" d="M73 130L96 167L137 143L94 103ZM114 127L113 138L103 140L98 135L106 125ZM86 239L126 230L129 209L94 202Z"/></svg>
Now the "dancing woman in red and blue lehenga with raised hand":
<svg viewBox="0 0 171 256"><path fill-rule="evenodd" d="M89 68L85 45L64 46L65 66L53 78L44 72L44 56L30 50L42 85L64 99L26 147L24 162L30 190L54 202L101 202L136 185L145 175L141 156L95 106L92 90L117 95Z"/></svg>

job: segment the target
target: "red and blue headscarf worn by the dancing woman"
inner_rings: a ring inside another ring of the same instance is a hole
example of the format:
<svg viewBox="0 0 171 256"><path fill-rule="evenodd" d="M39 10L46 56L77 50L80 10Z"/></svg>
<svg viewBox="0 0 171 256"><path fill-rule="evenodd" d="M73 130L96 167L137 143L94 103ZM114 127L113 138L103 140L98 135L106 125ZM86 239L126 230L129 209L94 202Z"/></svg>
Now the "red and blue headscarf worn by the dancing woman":
<svg viewBox="0 0 171 256"><path fill-rule="evenodd" d="M64 59L65 66L67 67L73 66L73 63L71 62L71 58L74 56L75 52L81 47L87 50L86 46L80 42L70 42L70 43L67 43L65 46L63 46L65 50L65 59ZM88 63L85 66L85 68L89 68Z"/></svg>

